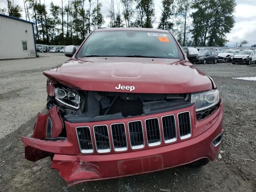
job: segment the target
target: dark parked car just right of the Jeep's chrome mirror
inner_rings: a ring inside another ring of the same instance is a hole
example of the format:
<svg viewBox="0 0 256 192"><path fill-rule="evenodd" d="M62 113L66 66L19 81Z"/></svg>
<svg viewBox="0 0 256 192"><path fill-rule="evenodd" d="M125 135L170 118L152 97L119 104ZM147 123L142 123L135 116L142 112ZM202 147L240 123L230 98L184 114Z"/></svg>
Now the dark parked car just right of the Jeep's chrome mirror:
<svg viewBox="0 0 256 192"><path fill-rule="evenodd" d="M217 63L217 55L215 51L202 50L198 52L198 56L190 60L192 63L202 63L206 64L212 62Z"/></svg>

